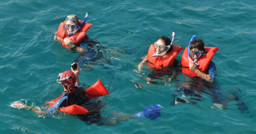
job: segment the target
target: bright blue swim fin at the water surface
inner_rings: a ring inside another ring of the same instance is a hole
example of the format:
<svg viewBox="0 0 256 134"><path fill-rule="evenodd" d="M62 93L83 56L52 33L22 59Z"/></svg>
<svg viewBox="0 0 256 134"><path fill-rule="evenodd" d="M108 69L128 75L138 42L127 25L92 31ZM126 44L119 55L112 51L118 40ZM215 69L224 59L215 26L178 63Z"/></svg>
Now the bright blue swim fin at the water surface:
<svg viewBox="0 0 256 134"><path fill-rule="evenodd" d="M137 118L146 117L154 120L157 117L161 116L160 109L163 109L163 106L161 106L160 104L150 105L146 107L144 111L137 112L136 114L133 114L133 116Z"/></svg>

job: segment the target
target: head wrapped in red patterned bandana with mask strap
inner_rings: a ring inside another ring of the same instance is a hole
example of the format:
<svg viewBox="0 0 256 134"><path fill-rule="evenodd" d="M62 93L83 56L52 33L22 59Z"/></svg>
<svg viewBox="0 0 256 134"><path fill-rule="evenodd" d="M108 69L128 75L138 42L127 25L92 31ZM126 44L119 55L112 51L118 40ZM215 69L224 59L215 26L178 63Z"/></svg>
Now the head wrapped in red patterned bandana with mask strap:
<svg viewBox="0 0 256 134"><path fill-rule="evenodd" d="M76 84L76 75L70 70L67 70L63 73L59 73L59 75L58 75L59 79L67 78L69 76L70 76L70 78L67 80L61 81L61 84L63 85L63 87L65 89L67 89L70 93L72 93L72 92L76 91L76 89L74 87Z"/></svg>

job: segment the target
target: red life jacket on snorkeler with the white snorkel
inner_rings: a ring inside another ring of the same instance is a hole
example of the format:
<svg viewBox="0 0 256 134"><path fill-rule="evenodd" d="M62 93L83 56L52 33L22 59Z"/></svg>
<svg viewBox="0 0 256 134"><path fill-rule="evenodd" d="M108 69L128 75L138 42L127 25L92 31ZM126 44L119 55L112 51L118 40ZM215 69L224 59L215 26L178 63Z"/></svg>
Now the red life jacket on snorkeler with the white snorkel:
<svg viewBox="0 0 256 134"><path fill-rule="evenodd" d="M151 44L148 49L148 64L155 70L165 70L164 67L171 66L181 50L183 50L182 47L178 45L172 45L172 50L170 52L163 56L153 57L152 55L156 53L156 50L153 44Z"/></svg>

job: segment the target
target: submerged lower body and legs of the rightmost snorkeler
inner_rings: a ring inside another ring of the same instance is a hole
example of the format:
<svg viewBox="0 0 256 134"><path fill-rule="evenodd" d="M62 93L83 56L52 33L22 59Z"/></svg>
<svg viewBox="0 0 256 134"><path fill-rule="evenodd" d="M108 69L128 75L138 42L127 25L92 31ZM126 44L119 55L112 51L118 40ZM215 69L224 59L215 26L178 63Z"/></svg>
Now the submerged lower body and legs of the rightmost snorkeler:
<svg viewBox="0 0 256 134"><path fill-rule="evenodd" d="M177 92L173 95L174 101L170 105L175 106L179 103L195 104L197 101L201 101L202 96L209 95L212 98L213 105L219 109L227 109L228 103L236 100L236 105L241 113L249 113L244 100L239 98L241 97L240 93L244 92L239 88L232 88L228 92L224 92L217 81L208 82L198 77L192 77L184 81L182 87L177 88Z"/></svg>

